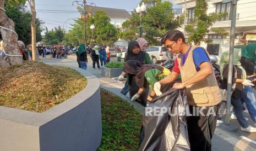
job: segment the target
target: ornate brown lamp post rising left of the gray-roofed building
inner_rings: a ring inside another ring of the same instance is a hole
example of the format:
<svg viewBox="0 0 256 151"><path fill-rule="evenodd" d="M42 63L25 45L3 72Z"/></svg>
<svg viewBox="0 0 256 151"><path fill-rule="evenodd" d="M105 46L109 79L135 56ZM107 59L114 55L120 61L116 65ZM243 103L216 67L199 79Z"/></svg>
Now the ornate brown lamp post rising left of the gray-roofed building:
<svg viewBox="0 0 256 151"><path fill-rule="evenodd" d="M83 8L81 9L80 7L78 7L78 10L80 11L80 19L84 21L84 44L86 48L86 22L91 15L89 12L91 10L91 7L96 7L96 5L94 3L86 2L86 0L74 1L72 5L74 5L74 3L77 3L77 5L80 5L80 7Z"/></svg>

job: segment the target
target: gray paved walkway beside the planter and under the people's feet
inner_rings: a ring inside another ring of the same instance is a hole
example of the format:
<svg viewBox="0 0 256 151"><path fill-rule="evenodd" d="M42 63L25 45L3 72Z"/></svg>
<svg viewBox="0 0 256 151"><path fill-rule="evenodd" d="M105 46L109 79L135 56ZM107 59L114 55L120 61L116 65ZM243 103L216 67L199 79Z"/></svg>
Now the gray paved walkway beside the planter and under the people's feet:
<svg viewBox="0 0 256 151"><path fill-rule="evenodd" d="M116 60L116 57L112 57L112 60ZM77 61L75 60L41 60L41 62L50 64L50 65L67 65L67 66L78 66ZM94 74L97 78L99 78L101 83L101 88L112 92L116 96L119 96L132 104L135 108L137 108L141 114L144 113L145 108L141 106L141 104L130 101L129 96L124 96L120 93L121 89L124 86L123 82L119 82L116 79L105 78L101 76L101 70L92 68L92 61L89 58L88 69L89 72ZM256 137L255 133L247 133L241 132L239 130L239 126L236 120L231 120L230 125L225 123L217 124L213 140L212 140L212 150L256 150ZM250 136L250 137L248 137Z"/></svg>

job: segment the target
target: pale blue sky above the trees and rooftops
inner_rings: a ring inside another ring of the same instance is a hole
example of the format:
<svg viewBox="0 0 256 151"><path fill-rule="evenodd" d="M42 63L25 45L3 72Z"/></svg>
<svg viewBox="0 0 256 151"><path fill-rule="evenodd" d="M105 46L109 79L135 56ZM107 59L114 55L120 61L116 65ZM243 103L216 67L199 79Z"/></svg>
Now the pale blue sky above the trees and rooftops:
<svg viewBox="0 0 256 151"><path fill-rule="evenodd" d="M81 0L79 0L81 1ZM172 0L169 0L172 2ZM73 24L74 18L79 18L79 13L77 11L77 4L70 0L36 0L36 17L45 22L43 27L47 27L51 30L54 27L61 26L65 30L68 30L70 24ZM118 8L126 9L127 11L133 11L140 0L92 0L87 1L95 3L97 7L108 7L108 8ZM179 5L173 5L173 8L177 8ZM71 13L56 13L56 10L72 11ZM55 12L55 13L46 13ZM44 33L44 32L43 32Z"/></svg>

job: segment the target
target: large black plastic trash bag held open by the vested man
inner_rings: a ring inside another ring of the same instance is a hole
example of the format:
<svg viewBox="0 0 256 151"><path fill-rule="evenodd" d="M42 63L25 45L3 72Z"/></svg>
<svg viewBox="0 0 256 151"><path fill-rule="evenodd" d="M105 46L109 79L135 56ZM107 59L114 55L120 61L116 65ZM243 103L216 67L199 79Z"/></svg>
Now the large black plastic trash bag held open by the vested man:
<svg viewBox="0 0 256 151"><path fill-rule="evenodd" d="M168 111L154 116L154 108L161 111L161 107ZM154 98L143 118L139 150L190 150L186 108L188 103L185 90L171 88Z"/></svg>

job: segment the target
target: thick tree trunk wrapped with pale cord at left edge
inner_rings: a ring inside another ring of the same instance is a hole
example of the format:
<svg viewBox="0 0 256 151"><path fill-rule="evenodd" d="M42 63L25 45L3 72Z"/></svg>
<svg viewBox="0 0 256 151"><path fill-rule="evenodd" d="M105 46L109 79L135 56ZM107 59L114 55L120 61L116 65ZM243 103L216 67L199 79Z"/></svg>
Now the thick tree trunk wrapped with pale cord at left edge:
<svg viewBox="0 0 256 151"><path fill-rule="evenodd" d="M4 0L0 0L0 7L4 8ZM0 26L15 31L14 22L8 18L2 9L0 9ZM0 32L3 39L5 53L9 55L20 55L17 43L18 36L15 33L1 27ZM6 66L8 65L18 65L23 63L23 58L18 56L7 56L7 60L8 62L2 59L0 60L0 69L6 69Z"/></svg>

